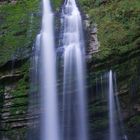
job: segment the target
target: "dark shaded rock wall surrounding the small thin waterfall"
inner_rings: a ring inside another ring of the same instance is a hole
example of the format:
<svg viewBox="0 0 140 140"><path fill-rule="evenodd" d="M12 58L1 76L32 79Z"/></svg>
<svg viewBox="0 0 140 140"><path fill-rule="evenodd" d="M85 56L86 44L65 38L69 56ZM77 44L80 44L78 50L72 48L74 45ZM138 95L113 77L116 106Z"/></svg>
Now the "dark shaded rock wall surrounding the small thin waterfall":
<svg viewBox="0 0 140 140"><path fill-rule="evenodd" d="M106 96L102 96L105 92L104 78L102 73L112 69L117 75L117 96L119 98L122 119L128 139L136 140L140 138L140 57L135 56L123 63L112 64L112 66L98 68L89 68L88 89L89 93L89 114L91 122L91 131L95 139L103 139L108 133L108 107ZM129 66L133 67L129 67ZM129 69L126 71L126 68ZM96 70L95 70L96 69ZM133 71L133 72L132 72ZM98 123L97 123L98 122Z"/></svg>

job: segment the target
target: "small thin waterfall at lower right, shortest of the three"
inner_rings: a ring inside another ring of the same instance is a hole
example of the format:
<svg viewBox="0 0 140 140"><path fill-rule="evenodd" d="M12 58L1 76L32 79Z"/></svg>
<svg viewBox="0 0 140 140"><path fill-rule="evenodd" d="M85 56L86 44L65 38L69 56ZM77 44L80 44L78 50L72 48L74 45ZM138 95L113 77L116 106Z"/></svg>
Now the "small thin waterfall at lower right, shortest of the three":
<svg viewBox="0 0 140 140"><path fill-rule="evenodd" d="M112 70L108 73L109 100L109 140L127 140L121 115L121 107L117 95L116 74Z"/></svg>

